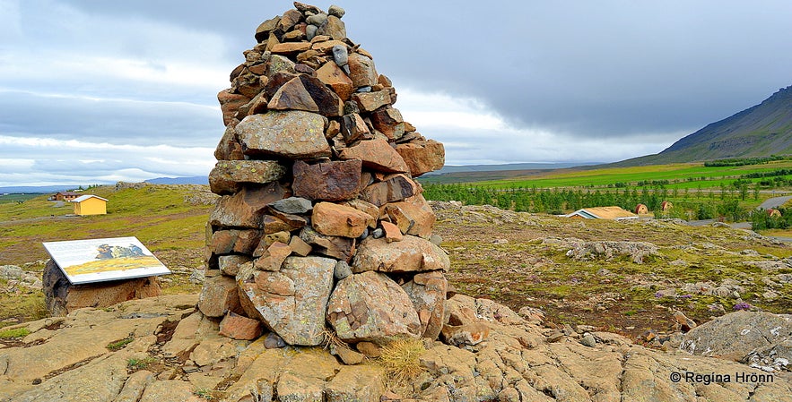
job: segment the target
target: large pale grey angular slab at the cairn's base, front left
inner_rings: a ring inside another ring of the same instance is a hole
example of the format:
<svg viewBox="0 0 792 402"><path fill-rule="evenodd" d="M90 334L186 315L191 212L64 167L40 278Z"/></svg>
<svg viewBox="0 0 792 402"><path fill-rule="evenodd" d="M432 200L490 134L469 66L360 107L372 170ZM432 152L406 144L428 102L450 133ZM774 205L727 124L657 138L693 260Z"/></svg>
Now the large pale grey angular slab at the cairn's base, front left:
<svg viewBox="0 0 792 402"><path fill-rule="evenodd" d="M239 289L258 318L287 344L316 346L325 340L334 268L333 259L290 257L277 272L255 271L248 278L238 277Z"/></svg>

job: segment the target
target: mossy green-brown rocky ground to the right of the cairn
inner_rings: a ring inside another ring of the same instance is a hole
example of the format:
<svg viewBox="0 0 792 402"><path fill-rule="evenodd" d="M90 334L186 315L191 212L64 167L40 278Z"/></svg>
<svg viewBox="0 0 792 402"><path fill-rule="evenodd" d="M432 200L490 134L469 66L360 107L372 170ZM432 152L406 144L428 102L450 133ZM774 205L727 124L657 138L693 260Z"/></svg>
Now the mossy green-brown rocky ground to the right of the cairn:
<svg viewBox="0 0 792 402"><path fill-rule="evenodd" d="M559 326L668 339L683 327L677 312L701 324L792 305L792 248L723 223L570 220L453 201L432 207L452 261L448 279L460 292L515 311L539 308Z"/></svg>

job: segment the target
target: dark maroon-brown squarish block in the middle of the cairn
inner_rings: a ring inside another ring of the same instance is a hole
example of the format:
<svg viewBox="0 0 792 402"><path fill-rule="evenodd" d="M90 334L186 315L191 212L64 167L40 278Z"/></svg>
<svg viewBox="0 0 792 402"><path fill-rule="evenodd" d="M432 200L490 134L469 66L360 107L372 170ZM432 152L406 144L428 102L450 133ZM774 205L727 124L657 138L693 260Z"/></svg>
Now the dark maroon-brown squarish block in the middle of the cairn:
<svg viewBox="0 0 792 402"><path fill-rule="evenodd" d="M316 201L352 200L360 193L361 160L309 165L301 160L292 167L292 190L297 197Z"/></svg>

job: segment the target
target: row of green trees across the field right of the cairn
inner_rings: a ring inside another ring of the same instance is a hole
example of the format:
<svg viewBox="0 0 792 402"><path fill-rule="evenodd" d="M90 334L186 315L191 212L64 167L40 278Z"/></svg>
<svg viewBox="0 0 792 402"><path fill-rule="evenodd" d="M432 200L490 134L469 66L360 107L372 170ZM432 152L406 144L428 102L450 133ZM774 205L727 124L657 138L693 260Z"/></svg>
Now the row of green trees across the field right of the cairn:
<svg viewBox="0 0 792 402"><path fill-rule="evenodd" d="M725 218L728 220L744 220L750 217L751 211L740 206L739 198L744 200L747 191L739 188L731 189L716 197L713 192L696 193L688 198L688 192L680 194L677 189L643 187L640 189L623 189L610 191L591 191L580 189L536 189L518 188L499 190L466 184L426 184L423 195L428 200L462 201L468 205L490 204L504 210L525 212L544 212L562 214L565 211L579 210L586 207L606 207L616 205L624 210L634 210L638 204L644 204L648 210L654 210L658 218L711 219ZM758 197L759 193L755 192ZM675 208L660 211L663 201L674 200Z"/></svg>

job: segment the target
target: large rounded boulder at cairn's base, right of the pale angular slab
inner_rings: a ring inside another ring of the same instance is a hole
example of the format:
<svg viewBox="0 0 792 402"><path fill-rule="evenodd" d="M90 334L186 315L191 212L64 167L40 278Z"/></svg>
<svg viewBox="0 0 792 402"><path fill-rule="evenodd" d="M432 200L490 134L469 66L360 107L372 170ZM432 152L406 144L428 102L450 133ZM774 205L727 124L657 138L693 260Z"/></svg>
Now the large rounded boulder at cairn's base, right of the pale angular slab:
<svg viewBox="0 0 792 402"><path fill-rule="evenodd" d="M384 345L396 338L419 338L421 321L404 289L379 272L342 279L327 304L327 321L344 342Z"/></svg>

